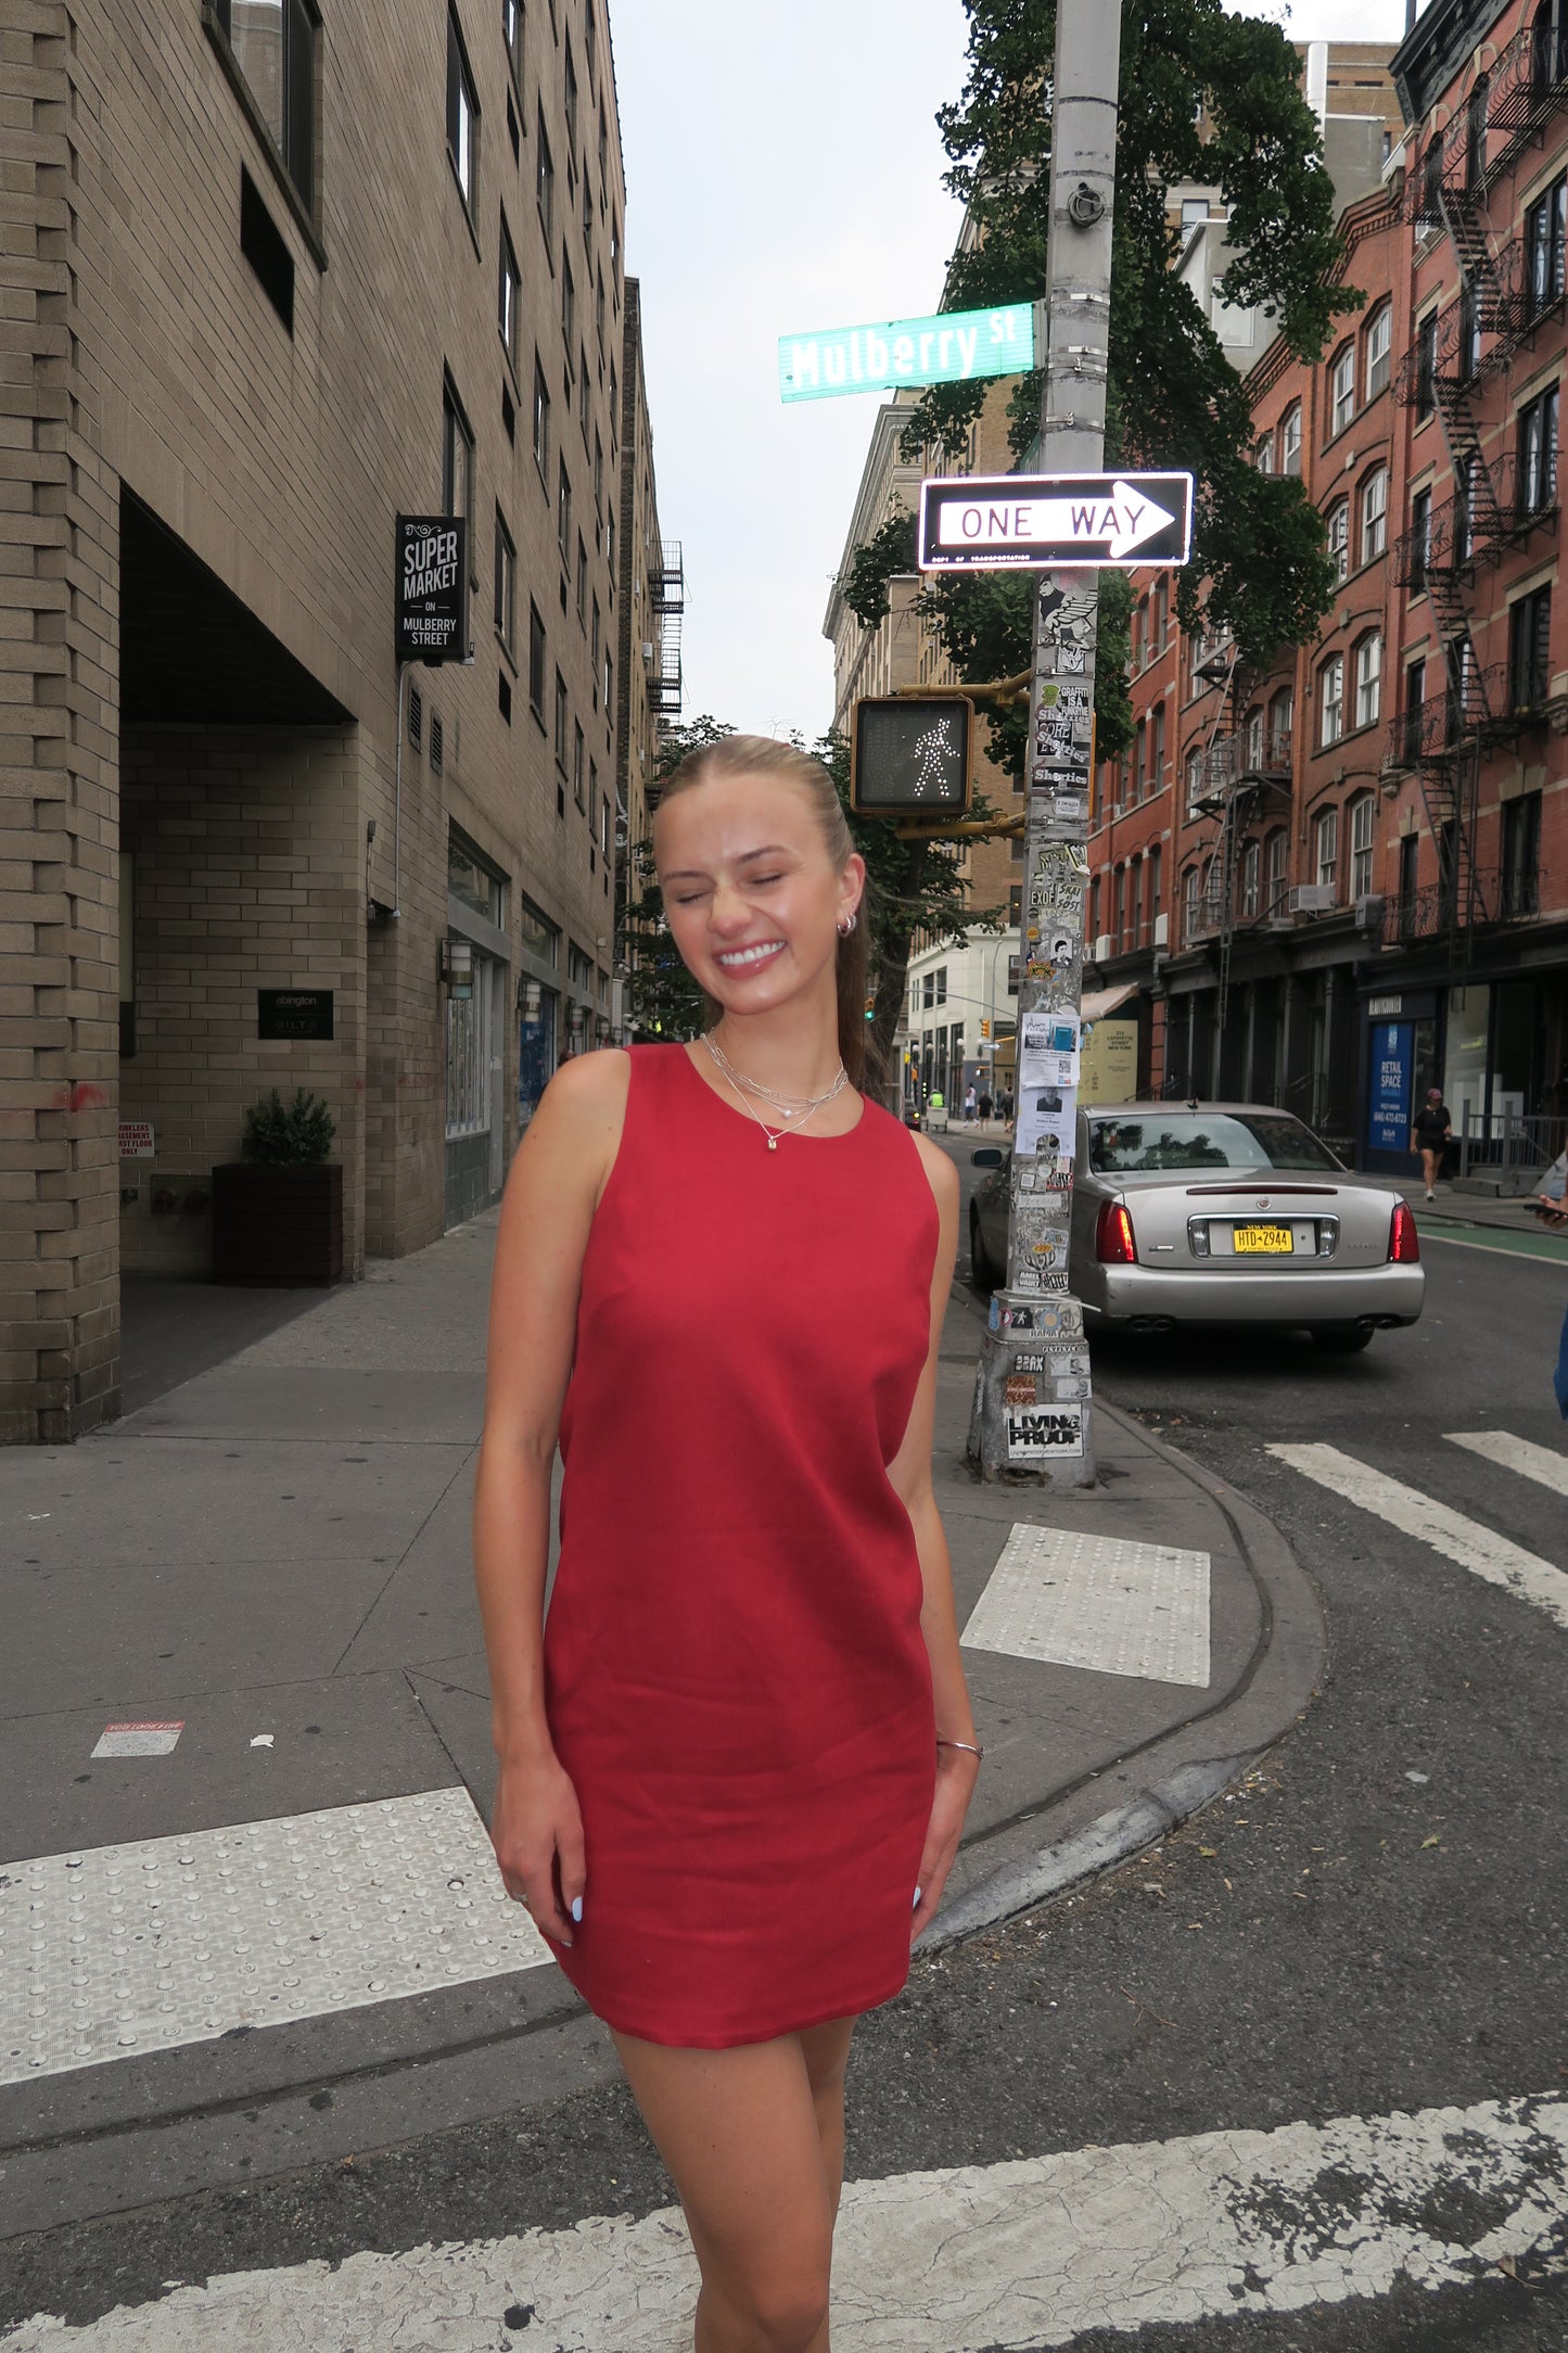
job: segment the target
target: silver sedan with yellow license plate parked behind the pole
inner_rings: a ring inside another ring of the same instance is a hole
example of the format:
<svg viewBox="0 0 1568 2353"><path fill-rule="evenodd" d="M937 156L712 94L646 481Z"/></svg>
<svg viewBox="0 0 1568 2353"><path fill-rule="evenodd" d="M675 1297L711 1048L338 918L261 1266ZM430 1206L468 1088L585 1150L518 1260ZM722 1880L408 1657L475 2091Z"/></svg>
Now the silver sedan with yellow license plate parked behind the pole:
<svg viewBox="0 0 1568 2353"><path fill-rule="evenodd" d="M973 1153L990 1169L969 1205L980 1289L1006 1273L1009 1158ZM1070 1280L1091 1332L1305 1325L1342 1351L1415 1322L1427 1287L1410 1205L1260 1104L1081 1111Z"/></svg>

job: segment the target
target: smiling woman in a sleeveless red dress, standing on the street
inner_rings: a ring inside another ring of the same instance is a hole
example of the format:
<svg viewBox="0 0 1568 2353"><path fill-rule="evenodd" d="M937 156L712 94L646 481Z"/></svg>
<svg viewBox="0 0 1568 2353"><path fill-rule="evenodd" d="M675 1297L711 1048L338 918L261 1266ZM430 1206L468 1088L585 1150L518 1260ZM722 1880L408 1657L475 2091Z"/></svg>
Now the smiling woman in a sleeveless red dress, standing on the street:
<svg viewBox="0 0 1568 2353"><path fill-rule="evenodd" d="M675 2179L698 2353L825 2353L853 2024L980 1765L931 1492L959 1188L856 1092L865 864L827 772L726 736L654 856L712 1028L562 1068L496 1238L491 1838Z"/></svg>

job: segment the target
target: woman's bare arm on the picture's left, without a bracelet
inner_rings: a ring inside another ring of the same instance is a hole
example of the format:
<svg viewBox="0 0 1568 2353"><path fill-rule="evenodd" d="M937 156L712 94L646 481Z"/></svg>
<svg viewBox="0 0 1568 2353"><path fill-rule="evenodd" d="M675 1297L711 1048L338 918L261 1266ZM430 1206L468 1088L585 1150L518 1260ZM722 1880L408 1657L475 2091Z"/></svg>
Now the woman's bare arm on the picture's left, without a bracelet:
<svg viewBox="0 0 1568 2353"><path fill-rule="evenodd" d="M550 1471L583 1252L621 1141L628 1075L618 1052L564 1064L517 1146L496 1231L475 1478L475 1584L501 1760L491 1840L508 1892L527 1897L534 1922L562 1944L571 1944L567 1913L583 1894L585 1859L576 1793L545 1722Z"/></svg>

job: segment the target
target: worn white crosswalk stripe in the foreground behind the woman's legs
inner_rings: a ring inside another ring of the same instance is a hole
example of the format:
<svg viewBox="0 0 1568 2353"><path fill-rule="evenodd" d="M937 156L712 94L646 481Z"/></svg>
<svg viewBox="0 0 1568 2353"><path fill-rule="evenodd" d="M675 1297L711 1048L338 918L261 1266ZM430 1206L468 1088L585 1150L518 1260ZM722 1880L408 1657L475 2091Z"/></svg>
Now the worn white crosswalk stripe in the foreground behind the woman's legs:
<svg viewBox="0 0 1568 2353"><path fill-rule="evenodd" d="M832 2271L839 2353L1001 2353L1232 2313L1467 2287L1568 2242L1568 2099L1333 2118L851 2181ZM679 2207L639 2221L237 2271L85 2327L33 2315L7 2353L423 2346L494 2353L503 2313L574 2353L691 2346ZM531 2341L531 2339L529 2339Z"/></svg>

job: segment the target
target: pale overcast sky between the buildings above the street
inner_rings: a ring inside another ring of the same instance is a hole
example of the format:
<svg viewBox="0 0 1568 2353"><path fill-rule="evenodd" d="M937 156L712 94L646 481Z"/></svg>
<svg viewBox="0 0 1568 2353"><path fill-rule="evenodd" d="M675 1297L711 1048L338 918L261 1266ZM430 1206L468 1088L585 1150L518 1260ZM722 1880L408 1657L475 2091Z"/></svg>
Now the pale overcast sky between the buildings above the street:
<svg viewBox="0 0 1568 2353"><path fill-rule="evenodd" d="M1258 12L1389 45L1406 19L1403 0ZM783 407L776 344L936 308L959 214L933 115L966 21L961 0L611 0L686 718L806 739L832 718L823 614L877 395Z"/></svg>

